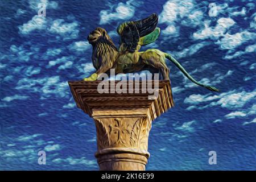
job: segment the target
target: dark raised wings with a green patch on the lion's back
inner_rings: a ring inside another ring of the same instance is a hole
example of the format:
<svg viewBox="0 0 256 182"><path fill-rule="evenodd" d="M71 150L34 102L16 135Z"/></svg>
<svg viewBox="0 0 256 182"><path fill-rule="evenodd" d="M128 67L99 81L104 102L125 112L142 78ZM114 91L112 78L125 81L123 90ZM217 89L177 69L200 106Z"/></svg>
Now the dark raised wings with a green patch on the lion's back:
<svg viewBox="0 0 256 182"><path fill-rule="evenodd" d="M120 35L119 51L135 52L138 45L146 45L154 42L160 34L158 15L152 14L145 19L125 22L118 26L117 32Z"/></svg>

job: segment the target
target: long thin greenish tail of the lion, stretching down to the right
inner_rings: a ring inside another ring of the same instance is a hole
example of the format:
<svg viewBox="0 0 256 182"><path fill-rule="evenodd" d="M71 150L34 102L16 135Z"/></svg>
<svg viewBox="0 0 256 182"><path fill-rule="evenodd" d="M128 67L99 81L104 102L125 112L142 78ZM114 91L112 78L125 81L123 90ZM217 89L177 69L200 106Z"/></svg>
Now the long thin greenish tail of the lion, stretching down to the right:
<svg viewBox="0 0 256 182"><path fill-rule="evenodd" d="M174 59L174 57L172 57L170 54L168 53L165 53L164 54L166 56L166 58L168 60L170 60L172 63L174 63L176 65L177 68L180 69L181 72L183 72L183 74L189 79L191 80L192 82L194 82L195 84L197 85L200 85L200 86L203 86L204 88L207 88L208 90L210 91L213 91L213 92L220 92L220 90L218 90L217 88L215 88L214 86L209 86L209 85L204 85L202 83L200 83L199 81L196 81L191 75L189 75L189 73L180 65L180 63Z"/></svg>

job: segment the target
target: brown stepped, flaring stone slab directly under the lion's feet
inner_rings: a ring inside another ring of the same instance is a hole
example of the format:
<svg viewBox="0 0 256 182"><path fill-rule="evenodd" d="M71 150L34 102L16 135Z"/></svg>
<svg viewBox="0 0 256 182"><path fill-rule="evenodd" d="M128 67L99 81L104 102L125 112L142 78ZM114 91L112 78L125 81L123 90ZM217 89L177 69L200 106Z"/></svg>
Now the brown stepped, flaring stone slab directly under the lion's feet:
<svg viewBox="0 0 256 182"><path fill-rule="evenodd" d="M100 117L104 114L145 113L151 120L174 106L170 81L159 81L159 95L155 100L149 100L150 93L98 93L98 84L101 81L69 81L68 84L76 101L77 107L82 109L90 117ZM110 81L109 81L110 82ZM119 81L114 81L115 86ZM131 84L127 83L127 88ZM135 88L135 83L132 84ZM139 83L140 89L142 82ZM154 88L154 84L153 84ZM102 111L108 112L102 112ZM135 112L136 110L136 112Z"/></svg>

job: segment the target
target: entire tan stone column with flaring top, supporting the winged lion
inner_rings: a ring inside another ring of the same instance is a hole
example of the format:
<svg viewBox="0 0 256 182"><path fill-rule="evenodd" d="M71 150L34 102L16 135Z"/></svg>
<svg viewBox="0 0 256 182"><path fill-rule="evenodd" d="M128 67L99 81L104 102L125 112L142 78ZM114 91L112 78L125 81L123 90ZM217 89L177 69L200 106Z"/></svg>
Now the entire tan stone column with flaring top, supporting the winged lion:
<svg viewBox="0 0 256 182"><path fill-rule="evenodd" d="M99 82L69 81L69 86L77 107L94 119L100 170L145 170L151 122L174 106L170 81L159 81L155 100L141 92L100 94Z"/></svg>

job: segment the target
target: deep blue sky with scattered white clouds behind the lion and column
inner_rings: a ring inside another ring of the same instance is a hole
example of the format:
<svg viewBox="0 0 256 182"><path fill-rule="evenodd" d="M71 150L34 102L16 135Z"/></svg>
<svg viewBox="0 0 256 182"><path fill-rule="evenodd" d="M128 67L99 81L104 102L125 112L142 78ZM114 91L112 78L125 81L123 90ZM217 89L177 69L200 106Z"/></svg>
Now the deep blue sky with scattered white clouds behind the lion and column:
<svg viewBox="0 0 256 182"><path fill-rule="evenodd" d="M256 13L254 1L1 1L0 169L97 170L96 131L77 109L68 80L95 70L86 37L126 20L159 15L162 32L147 48L171 53L175 107L150 132L149 170L255 170ZM216 12L209 9L215 3ZM212 4L211 4L212 5ZM213 16L213 14L214 16ZM38 151L46 151L46 165ZM217 165L208 152L216 151Z"/></svg>

